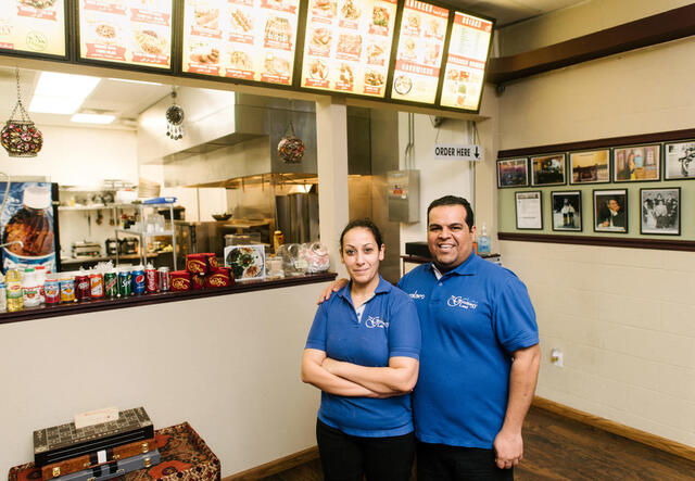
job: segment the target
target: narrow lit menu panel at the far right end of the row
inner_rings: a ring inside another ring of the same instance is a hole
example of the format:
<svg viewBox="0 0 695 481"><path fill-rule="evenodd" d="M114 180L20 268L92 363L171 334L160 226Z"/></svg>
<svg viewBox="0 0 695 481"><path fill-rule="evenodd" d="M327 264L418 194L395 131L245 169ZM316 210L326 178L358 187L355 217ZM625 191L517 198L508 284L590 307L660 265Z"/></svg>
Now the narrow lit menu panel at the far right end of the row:
<svg viewBox="0 0 695 481"><path fill-rule="evenodd" d="M492 22L454 14L441 105L478 110L491 37Z"/></svg>

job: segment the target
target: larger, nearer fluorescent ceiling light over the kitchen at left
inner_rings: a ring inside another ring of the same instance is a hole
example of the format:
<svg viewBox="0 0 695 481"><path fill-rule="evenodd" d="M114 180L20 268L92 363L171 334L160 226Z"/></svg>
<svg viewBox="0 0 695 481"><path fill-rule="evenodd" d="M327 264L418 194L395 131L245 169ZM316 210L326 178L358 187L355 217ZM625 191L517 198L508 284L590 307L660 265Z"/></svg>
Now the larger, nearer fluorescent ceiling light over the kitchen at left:
<svg viewBox="0 0 695 481"><path fill-rule="evenodd" d="M100 80L99 77L41 72L29 112L73 114Z"/></svg>

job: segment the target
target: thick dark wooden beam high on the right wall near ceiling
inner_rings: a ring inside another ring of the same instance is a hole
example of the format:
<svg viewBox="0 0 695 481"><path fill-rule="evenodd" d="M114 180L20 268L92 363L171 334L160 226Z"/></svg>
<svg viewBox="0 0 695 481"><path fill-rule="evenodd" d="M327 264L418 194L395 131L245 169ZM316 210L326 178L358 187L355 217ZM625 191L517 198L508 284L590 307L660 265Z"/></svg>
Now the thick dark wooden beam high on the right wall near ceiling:
<svg viewBox="0 0 695 481"><path fill-rule="evenodd" d="M485 79L492 84L504 84L692 35L695 35L695 4L516 55L490 59Z"/></svg>

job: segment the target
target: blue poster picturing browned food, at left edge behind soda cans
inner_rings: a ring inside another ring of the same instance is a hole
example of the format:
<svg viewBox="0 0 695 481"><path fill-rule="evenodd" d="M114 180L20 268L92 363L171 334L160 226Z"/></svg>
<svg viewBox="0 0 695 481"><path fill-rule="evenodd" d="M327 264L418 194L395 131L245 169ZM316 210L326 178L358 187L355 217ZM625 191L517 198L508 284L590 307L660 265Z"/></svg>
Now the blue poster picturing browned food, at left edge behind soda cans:
<svg viewBox="0 0 695 481"><path fill-rule="evenodd" d="M7 182L0 182L0 203ZM55 226L50 182L10 182L0 213L2 271L45 266L55 271Z"/></svg>

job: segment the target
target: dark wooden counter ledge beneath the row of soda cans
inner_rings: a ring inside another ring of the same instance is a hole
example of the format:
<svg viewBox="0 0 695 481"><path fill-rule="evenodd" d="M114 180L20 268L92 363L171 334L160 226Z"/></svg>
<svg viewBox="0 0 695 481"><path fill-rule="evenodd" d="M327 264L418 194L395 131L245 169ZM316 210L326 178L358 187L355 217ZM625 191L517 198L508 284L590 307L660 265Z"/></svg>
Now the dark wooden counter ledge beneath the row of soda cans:
<svg viewBox="0 0 695 481"><path fill-rule="evenodd" d="M187 292L161 292L156 294L132 295L128 299L102 299L84 303L59 304L55 306L31 307L18 313L0 314L0 325L41 319L46 317L70 316L73 314L94 313L99 311L122 309L142 305L161 304L164 302L188 301L190 299L214 298L217 295L238 294L242 292L280 289L307 283L330 282L336 279L336 273L307 274L285 279L256 280L238 282L230 288L201 289ZM316 291L318 299L319 291Z"/></svg>

